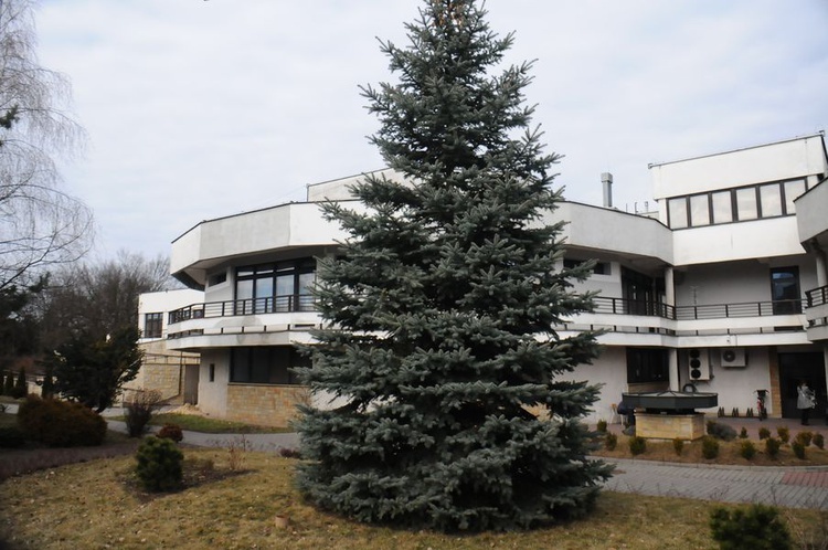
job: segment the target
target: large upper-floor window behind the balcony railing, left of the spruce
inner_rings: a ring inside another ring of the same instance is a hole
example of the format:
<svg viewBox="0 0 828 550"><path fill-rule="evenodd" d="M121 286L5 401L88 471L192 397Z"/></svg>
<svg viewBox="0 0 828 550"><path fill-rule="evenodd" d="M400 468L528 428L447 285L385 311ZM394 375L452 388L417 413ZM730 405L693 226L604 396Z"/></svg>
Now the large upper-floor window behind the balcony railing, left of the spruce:
<svg viewBox="0 0 828 550"><path fill-rule="evenodd" d="M236 315L310 311L316 282L312 258L236 269Z"/></svg>

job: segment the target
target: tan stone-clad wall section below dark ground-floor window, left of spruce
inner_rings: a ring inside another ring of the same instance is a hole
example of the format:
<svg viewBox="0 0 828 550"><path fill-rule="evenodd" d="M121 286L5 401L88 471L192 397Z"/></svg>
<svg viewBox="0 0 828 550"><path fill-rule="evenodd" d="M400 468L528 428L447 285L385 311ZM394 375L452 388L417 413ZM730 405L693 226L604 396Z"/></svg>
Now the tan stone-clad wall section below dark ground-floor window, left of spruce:
<svg viewBox="0 0 828 550"><path fill-rule="evenodd" d="M287 427L296 416L296 405L307 400L304 385L230 384L227 420Z"/></svg>

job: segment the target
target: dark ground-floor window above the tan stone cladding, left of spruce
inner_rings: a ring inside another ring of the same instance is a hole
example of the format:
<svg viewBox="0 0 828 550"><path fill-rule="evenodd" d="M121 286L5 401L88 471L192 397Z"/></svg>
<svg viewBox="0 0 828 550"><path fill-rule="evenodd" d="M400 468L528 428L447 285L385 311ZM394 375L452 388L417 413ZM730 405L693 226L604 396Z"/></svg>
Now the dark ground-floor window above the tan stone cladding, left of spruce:
<svg viewBox="0 0 828 550"><path fill-rule="evenodd" d="M233 348L230 381L246 384L298 384L294 367L309 367L310 360L290 346Z"/></svg>

